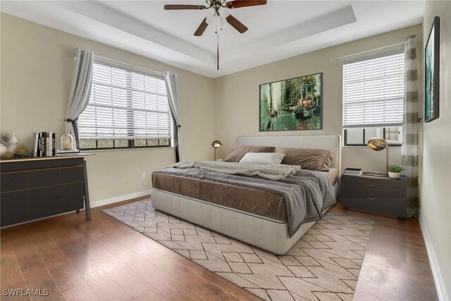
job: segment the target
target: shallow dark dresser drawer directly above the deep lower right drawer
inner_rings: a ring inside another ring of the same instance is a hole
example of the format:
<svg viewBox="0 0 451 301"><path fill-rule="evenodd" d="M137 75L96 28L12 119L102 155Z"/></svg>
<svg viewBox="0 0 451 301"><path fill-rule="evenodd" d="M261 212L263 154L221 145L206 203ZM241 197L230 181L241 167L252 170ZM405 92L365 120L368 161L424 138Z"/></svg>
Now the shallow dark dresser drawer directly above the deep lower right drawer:
<svg viewBox="0 0 451 301"><path fill-rule="evenodd" d="M28 172L28 188L38 188L82 181L82 166L49 168Z"/></svg>

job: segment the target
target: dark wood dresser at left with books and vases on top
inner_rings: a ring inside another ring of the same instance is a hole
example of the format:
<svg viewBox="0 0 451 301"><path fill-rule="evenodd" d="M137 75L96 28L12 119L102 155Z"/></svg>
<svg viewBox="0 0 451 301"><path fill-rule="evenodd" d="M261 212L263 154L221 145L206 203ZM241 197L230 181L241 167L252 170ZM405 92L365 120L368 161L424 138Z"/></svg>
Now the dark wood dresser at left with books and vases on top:
<svg viewBox="0 0 451 301"><path fill-rule="evenodd" d="M84 160L89 155L1 159L1 227L69 211L78 213L84 205L86 218L91 219Z"/></svg>

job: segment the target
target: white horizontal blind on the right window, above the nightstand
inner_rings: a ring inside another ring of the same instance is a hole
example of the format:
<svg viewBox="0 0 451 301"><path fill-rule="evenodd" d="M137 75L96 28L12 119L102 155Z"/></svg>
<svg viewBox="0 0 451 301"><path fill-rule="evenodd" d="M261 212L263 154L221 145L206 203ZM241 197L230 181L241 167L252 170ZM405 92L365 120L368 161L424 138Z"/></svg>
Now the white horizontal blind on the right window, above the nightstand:
<svg viewBox="0 0 451 301"><path fill-rule="evenodd" d="M400 125L404 53L343 64L343 128Z"/></svg>

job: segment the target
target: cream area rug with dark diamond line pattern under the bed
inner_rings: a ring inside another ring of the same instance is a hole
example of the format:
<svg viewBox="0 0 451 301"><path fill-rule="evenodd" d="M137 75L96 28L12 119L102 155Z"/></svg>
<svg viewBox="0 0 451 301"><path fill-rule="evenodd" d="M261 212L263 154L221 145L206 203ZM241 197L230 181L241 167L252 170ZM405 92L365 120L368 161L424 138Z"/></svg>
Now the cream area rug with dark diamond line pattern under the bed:
<svg viewBox="0 0 451 301"><path fill-rule="evenodd" d="M328 211L276 255L157 211L150 199L104 212L264 300L352 300L373 225Z"/></svg>

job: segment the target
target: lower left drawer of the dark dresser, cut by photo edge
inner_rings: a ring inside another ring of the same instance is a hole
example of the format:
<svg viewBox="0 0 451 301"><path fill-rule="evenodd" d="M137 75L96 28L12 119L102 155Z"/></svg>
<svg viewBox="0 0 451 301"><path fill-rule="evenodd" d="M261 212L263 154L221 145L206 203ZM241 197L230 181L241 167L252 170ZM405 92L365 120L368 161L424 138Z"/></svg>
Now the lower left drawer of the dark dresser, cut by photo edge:
<svg viewBox="0 0 451 301"><path fill-rule="evenodd" d="M1 227L13 225L14 223L22 223L24 221L27 221L27 190L1 192Z"/></svg>

